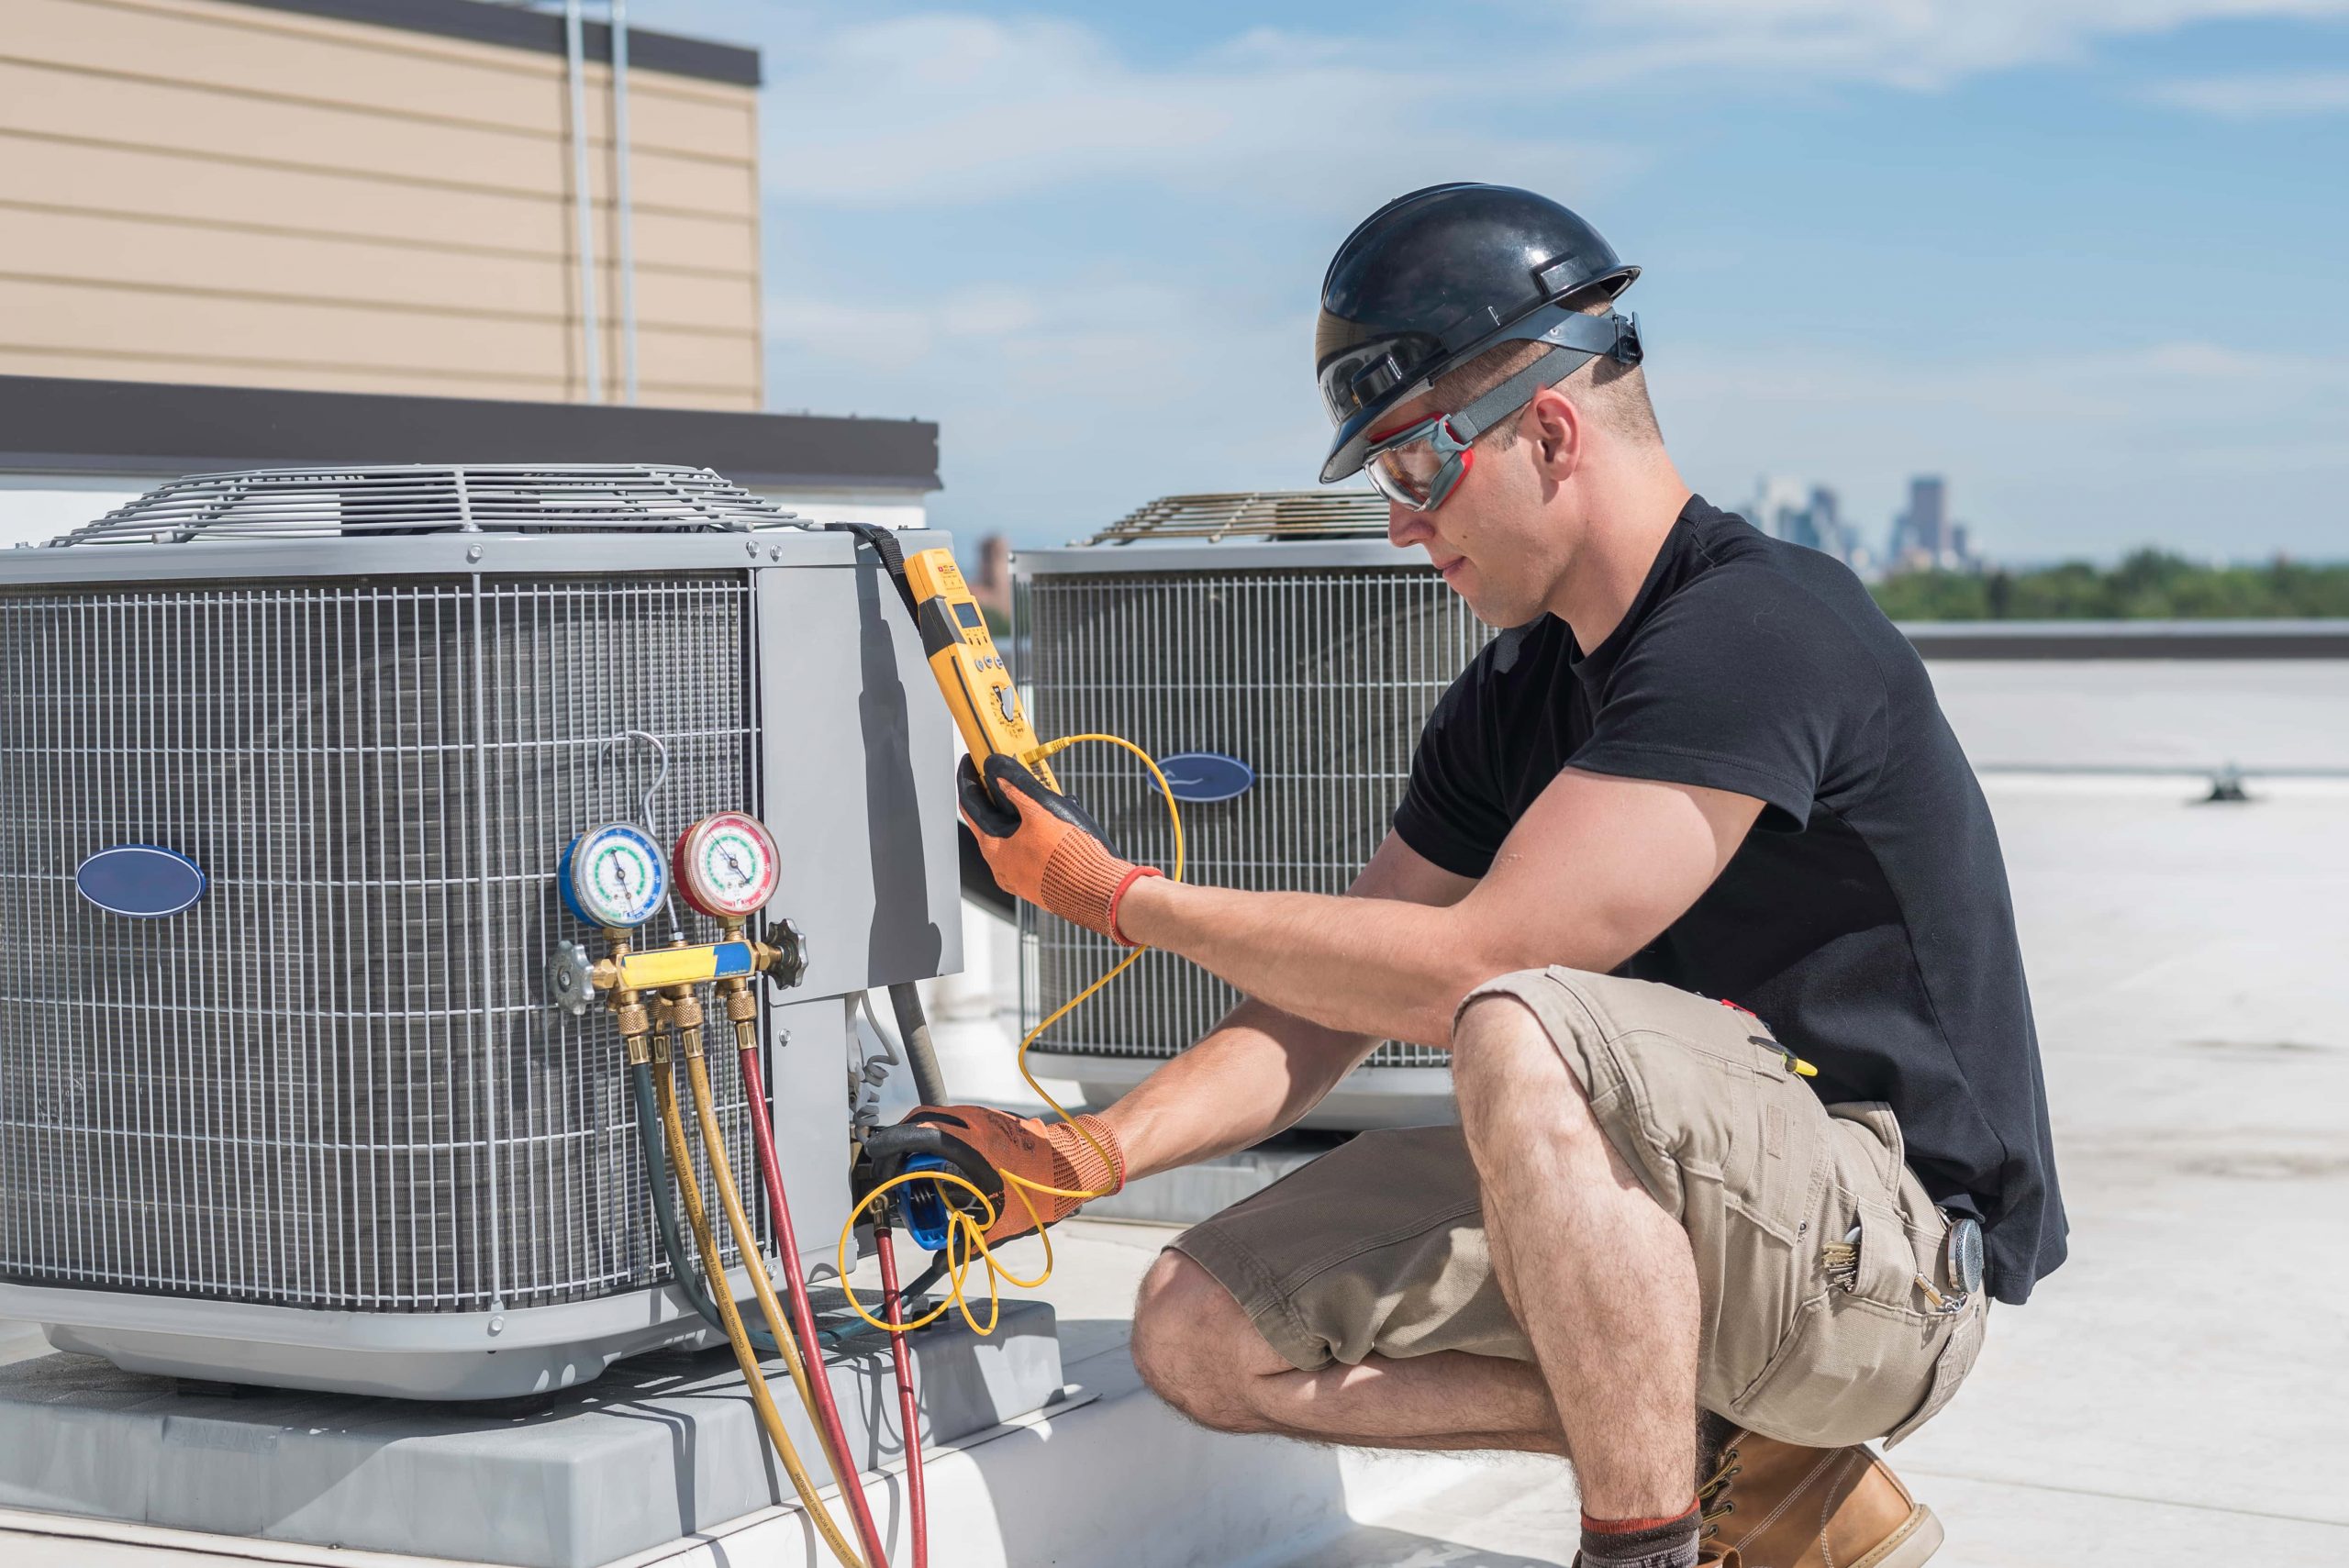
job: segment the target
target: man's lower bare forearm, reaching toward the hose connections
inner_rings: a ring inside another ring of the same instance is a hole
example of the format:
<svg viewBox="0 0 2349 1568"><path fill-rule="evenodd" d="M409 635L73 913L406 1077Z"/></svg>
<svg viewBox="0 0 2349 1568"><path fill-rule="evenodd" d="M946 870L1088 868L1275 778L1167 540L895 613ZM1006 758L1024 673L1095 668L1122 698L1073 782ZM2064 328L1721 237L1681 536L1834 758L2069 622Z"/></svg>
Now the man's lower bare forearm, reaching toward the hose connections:
<svg viewBox="0 0 2349 1568"><path fill-rule="evenodd" d="M1229 1155L1287 1129L1377 1045L1240 1002L1205 1040L1102 1113L1125 1178Z"/></svg>

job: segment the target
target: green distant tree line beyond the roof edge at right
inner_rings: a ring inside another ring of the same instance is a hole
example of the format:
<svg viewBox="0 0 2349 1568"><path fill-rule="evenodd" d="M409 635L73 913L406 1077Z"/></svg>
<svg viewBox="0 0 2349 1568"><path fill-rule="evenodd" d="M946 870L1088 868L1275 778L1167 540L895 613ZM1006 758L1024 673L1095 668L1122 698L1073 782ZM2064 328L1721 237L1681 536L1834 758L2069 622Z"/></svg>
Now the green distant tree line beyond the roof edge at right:
<svg viewBox="0 0 2349 1568"><path fill-rule="evenodd" d="M1893 620L2300 620L2349 617L2349 563L2196 566L2140 549L2114 568L1919 570L1875 584Z"/></svg>

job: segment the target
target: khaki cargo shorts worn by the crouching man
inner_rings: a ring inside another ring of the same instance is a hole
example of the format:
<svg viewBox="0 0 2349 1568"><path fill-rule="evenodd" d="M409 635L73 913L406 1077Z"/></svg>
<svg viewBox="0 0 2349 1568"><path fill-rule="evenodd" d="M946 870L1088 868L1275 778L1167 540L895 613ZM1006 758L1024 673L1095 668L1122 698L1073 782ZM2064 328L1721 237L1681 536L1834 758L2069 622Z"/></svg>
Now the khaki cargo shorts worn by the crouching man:
<svg viewBox="0 0 2349 1568"><path fill-rule="evenodd" d="M1689 1232L1703 1408L1820 1448L1900 1441L1940 1413L1980 1352L1987 1296L1943 1312L1919 1289L1924 1275L1957 1298L1947 1225L1891 1108L1823 1106L1752 1014L1670 986L1527 969L1468 1002L1487 995L1534 1012L1609 1143ZM1858 1256L1830 1258L1853 1230ZM1174 1246L1304 1371L1438 1350L1534 1359L1456 1127L1362 1134Z"/></svg>

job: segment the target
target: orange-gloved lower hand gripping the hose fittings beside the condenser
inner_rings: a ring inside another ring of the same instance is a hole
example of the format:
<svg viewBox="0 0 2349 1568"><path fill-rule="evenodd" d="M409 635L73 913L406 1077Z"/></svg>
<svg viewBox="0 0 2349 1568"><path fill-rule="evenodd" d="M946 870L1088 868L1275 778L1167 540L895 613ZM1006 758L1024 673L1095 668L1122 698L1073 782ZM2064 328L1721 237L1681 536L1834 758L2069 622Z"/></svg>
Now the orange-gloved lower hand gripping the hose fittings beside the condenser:
<svg viewBox="0 0 2349 1568"><path fill-rule="evenodd" d="M1076 1131L1078 1124L1092 1134L1092 1143ZM1118 1134L1097 1115L1048 1127L1036 1117L1015 1117L987 1106L921 1106L895 1127L874 1129L864 1138L864 1153L883 1178L902 1169L907 1155L942 1155L996 1207L996 1223L987 1228L989 1246L1027 1235L1038 1223L1064 1221L1085 1204L1083 1197L1034 1188L1106 1197L1125 1185L1125 1150L1118 1148ZM1005 1176L1034 1185L1022 1190ZM949 1197L968 1199L958 1188Z"/></svg>

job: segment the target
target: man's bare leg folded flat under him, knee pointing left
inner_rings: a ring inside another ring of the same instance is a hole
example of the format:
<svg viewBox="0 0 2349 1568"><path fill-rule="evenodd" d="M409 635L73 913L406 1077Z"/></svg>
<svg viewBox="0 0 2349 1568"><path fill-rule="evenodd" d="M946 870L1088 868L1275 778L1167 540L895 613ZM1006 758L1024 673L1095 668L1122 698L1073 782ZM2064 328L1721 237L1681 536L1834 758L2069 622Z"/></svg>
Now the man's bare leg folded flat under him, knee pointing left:
<svg viewBox="0 0 2349 1568"><path fill-rule="evenodd" d="M1219 1432L1360 1448L1564 1453L1536 1366L1442 1350L1297 1371L1214 1275L1179 1251L1160 1253L1142 1282L1135 1366L1160 1399Z"/></svg>

